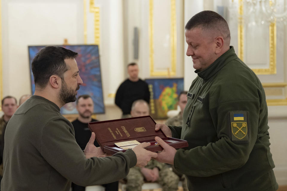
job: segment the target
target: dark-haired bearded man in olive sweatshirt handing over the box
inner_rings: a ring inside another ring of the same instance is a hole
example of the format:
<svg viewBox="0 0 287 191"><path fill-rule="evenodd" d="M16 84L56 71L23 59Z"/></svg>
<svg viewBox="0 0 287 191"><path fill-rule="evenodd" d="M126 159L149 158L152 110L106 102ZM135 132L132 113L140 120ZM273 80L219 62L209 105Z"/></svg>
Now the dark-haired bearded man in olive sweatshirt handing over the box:
<svg viewBox="0 0 287 191"><path fill-rule="evenodd" d="M65 103L76 100L83 83L76 56L65 48L47 46L33 59L35 94L7 124L1 190L68 191L71 181L82 186L106 184L157 157L144 149L150 143L101 157L104 153L94 146L94 133L82 151L72 124L60 114Z"/></svg>

